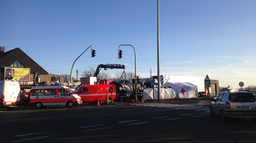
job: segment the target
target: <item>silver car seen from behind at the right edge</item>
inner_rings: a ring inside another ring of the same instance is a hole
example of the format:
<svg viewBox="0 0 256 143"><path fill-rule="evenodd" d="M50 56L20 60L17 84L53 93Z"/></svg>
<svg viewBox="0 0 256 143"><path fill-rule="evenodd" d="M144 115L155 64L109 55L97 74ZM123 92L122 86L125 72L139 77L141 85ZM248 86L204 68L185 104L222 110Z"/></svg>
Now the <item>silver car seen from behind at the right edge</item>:
<svg viewBox="0 0 256 143"><path fill-rule="evenodd" d="M210 114L227 118L250 118L256 122L256 98L253 93L244 91L224 91L217 93L210 103Z"/></svg>

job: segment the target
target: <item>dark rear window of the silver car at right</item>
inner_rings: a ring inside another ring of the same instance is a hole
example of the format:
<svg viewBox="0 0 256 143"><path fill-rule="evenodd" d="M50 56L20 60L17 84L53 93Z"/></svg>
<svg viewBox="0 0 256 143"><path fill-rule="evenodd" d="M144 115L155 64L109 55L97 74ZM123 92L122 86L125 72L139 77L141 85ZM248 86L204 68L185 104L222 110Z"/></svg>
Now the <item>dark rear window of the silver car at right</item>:
<svg viewBox="0 0 256 143"><path fill-rule="evenodd" d="M228 100L231 102L255 102L256 98L252 93L230 93Z"/></svg>

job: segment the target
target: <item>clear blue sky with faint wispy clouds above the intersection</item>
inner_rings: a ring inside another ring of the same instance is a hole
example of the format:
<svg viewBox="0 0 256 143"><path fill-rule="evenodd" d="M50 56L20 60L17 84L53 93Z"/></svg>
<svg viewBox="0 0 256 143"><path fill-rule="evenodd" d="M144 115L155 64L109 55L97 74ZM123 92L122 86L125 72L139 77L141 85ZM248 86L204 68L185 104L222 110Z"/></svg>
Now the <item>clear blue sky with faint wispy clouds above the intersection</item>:
<svg viewBox="0 0 256 143"><path fill-rule="evenodd" d="M256 85L255 0L160 0L160 74ZM51 74L124 64L157 75L157 0L0 0L0 46L19 47ZM107 70L108 73L122 70Z"/></svg>

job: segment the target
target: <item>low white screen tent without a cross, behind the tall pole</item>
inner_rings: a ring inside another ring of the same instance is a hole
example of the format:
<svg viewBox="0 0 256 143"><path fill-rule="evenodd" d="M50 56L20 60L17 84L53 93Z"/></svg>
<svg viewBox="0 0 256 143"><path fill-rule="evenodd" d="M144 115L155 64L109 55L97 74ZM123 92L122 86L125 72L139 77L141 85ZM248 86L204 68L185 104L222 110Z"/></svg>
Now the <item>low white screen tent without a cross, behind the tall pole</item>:
<svg viewBox="0 0 256 143"><path fill-rule="evenodd" d="M154 88L154 94L153 94L153 88L144 89L142 95L143 95L144 101L153 101L153 99L158 100L157 99L157 88ZM154 96L154 98L153 98L153 96ZM177 98L175 89L160 88L160 100L169 100L169 99L173 99L173 98Z"/></svg>

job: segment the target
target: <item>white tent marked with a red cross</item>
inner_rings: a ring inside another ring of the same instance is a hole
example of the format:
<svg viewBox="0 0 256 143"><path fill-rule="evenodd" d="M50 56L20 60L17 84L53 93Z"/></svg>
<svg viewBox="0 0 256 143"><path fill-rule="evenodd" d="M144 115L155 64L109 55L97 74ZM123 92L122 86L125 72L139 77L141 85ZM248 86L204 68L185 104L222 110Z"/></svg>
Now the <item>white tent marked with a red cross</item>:
<svg viewBox="0 0 256 143"><path fill-rule="evenodd" d="M179 98L197 98L197 86L188 82L166 82L161 87L175 88Z"/></svg>

